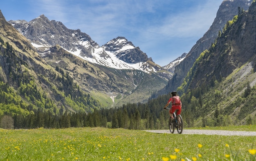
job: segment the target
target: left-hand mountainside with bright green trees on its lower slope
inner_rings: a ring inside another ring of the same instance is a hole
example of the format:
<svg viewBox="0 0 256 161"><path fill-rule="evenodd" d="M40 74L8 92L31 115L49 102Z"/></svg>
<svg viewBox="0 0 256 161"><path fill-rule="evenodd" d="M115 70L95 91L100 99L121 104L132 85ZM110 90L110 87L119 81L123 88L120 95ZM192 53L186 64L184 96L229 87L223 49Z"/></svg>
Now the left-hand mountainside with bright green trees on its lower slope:
<svg viewBox="0 0 256 161"><path fill-rule="evenodd" d="M63 69L47 64L0 11L0 115L92 112L101 103Z"/></svg>

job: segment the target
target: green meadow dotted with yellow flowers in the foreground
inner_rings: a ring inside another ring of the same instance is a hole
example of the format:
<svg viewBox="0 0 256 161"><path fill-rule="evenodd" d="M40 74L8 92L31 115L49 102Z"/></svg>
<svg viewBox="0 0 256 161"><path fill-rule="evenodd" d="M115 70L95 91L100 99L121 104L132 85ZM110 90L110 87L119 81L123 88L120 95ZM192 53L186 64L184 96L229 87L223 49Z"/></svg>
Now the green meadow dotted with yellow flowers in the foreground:
<svg viewBox="0 0 256 161"><path fill-rule="evenodd" d="M255 126L248 128L255 130ZM256 136L157 134L100 127L0 130L1 161L255 161L255 153Z"/></svg>

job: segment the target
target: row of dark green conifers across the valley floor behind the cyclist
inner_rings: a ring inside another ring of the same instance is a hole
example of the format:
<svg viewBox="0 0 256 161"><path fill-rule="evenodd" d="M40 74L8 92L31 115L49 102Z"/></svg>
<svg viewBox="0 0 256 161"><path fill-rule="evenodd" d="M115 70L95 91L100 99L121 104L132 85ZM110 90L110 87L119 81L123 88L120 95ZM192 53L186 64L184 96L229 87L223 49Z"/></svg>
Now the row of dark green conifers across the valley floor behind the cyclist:
<svg viewBox="0 0 256 161"><path fill-rule="evenodd" d="M218 83L216 82L216 86ZM216 104L219 99L220 91L213 87L214 92L205 97L202 93L210 90L207 85L202 85L197 89L191 90L188 94L182 95L182 118L185 127L205 127L205 126L227 126L234 122L229 116L235 104L245 102L244 110L235 120L244 119L250 114L255 105L256 88L247 88L241 97L234 100L234 104L229 105L224 110ZM171 94L159 96L149 100L147 103L128 103L116 108L95 109L94 112L70 112L65 111L63 114L53 114L45 111L43 108L34 109L26 116L22 114L11 115L8 112L0 114L0 127L14 129L32 129L32 128L68 128L68 127L108 127L108 128L125 128L132 130L146 129L167 129L168 128L168 110L163 107L171 97ZM215 100L215 102L213 102ZM211 111L214 113L210 114ZM8 121L7 121L8 120ZM12 121L11 121L12 120ZM11 125L9 125L11 123ZM255 124L255 117L249 116L246 124Z"/></svg>

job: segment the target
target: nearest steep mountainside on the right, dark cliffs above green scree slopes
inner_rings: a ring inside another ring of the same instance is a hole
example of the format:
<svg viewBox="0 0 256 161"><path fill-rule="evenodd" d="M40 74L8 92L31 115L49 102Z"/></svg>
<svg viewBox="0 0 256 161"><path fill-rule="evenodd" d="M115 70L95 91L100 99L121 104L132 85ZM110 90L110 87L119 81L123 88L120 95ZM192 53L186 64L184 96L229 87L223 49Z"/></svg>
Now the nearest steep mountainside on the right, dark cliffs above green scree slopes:
<svg viewBox="0 0 256 161"><path fill-rule="evenodd" d="M187 117L201 125L256 122L256 2L238 10L178 88ZM185 114L183 114L185 115ZM199 119L200 118L200 119ZM187 123L193 124L190 120Z"/></svg>

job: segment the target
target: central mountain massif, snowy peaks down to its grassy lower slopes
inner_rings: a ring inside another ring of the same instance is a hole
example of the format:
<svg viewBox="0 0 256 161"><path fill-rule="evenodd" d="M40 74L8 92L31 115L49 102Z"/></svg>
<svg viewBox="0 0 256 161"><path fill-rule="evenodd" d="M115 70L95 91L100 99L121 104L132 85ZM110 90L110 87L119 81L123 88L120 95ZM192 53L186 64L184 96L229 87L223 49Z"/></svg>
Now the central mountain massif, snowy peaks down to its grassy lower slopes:
<svg viewBox="0 0 256 161"><path fill-rule="evenodd" d="M79 29L67 29L44 15L9 23L25 36L47 64L69 72L80 89L104 106L145 102L172 76L124 37L102 47Z"/></svg>

